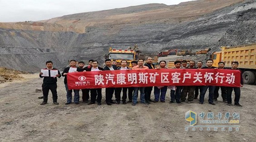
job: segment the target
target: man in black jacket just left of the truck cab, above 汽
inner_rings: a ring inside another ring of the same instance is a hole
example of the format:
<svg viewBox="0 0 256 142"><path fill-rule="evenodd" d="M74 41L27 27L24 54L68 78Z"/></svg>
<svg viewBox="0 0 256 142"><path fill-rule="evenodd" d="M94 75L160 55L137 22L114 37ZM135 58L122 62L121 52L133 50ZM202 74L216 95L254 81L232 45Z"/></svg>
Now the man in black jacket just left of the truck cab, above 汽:
<svg viewBox="0 0 256 142"><path fill-rule="evenodd" d="M106 59L105 60L105 64L106 66L103 68L104 71L114 71L117 70L117 67L115 65L111 64L111 60L110 59ZM112 105L115 104L112 100L113 97L113 93L114 93L115 88L106 88L106 103L108 105ZM117 102L117 104L120 104L120 101Z"/></svg>

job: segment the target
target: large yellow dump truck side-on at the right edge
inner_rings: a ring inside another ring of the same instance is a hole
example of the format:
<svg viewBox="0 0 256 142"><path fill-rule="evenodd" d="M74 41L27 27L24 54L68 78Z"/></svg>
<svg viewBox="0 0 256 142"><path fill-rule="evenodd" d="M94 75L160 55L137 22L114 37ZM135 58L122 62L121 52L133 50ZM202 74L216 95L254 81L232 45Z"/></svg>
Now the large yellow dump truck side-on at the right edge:
<svg viewBox="0 0 256 142"><path fill-rule="evenodd" d="M235 47L221 47L222 51L212 53L212 66L225 62L231 68L231 62L239 62L245 84L256 84L256 43Z"/></svg>

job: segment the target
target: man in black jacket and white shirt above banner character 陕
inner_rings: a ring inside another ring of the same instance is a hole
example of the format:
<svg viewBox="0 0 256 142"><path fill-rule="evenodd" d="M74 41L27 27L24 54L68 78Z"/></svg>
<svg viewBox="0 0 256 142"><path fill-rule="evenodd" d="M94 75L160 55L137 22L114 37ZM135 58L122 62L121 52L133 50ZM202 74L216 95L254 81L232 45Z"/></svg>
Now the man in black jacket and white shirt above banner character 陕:
<svg viewBox="0 0 256 142"><path fill-rule="evenodd" d="M87 68L85 71L103 71L102 67L98 66L98 61L92 61L92 67ZM101 99L102 99L102 89L101 88L94 88L91 90L91 102L88 104L95 104L96 97L97 97L97 103L98 105L101 105Z"/></svg>

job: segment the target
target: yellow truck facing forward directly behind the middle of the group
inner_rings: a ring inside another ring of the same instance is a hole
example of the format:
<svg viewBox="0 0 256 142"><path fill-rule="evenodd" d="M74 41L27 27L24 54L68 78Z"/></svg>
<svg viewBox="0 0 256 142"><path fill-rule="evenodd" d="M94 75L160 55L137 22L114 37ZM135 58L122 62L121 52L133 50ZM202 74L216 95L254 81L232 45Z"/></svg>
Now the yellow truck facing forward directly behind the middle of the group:
<svg viewBox="0 0 256 142"><path fill-rule="evenodd" d="M138 50L137 45L129 47L128 49L114 49L113 47L110 47L105 58L111 59L111 61L116 60L117 66L121 66L122 60L126 60L127 66L132 67L131 62L138 60L139 53L140 51Z"/></svg>

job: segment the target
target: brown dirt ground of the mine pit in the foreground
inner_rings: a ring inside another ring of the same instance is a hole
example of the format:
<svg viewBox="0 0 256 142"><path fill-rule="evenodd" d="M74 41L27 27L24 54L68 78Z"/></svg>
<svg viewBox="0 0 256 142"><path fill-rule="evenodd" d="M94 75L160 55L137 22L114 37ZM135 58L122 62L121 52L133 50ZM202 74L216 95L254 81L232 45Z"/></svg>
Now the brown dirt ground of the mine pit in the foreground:
<svg viewBox="0 0 256 142"><path fill-rule="evenodd" d="M36 93L35 89L41 87L43 79L38 74L23 77L24 80L0 84L0 142L255 142L255 85L241 89L242 108L227 106L221 101L213 106L207 99L204 104L198 104L198 100L192 104L169 104L170 90L167 90L166 103L108 106L103 89L101 106L65 105L64 78L61 77L57 89L60 104L52 103L50 93L48 104L42 106L39 105L42 99L38 99L42 93ZM185 131L189 125L185 120L188 110L198 114L240 113L240 129Z"/></svg>

